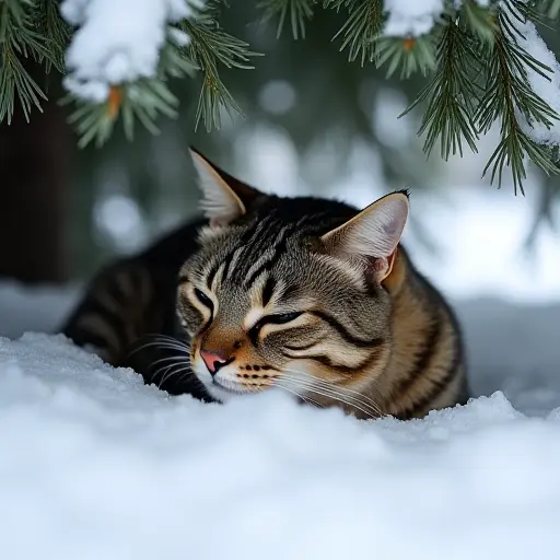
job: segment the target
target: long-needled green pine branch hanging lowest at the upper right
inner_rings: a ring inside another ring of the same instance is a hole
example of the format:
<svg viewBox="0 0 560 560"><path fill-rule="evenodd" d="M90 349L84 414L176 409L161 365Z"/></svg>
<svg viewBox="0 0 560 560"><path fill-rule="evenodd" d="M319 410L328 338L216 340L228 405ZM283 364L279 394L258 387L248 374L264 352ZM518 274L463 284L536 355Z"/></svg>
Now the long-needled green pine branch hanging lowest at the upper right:
<svg viewBox="0 0 560 560"><path fill-rule="evenodd" d="M513 15L511 15L513 14ZM517 19L517 22L512 21ZM501 122L501 141L491 155L483 174L491 167L491 182L501 185L503 170L511 166L514 189L523 192L526 178L525 159L529 158L547 174L560 173L558 147L542 145L529 136L527 129L550 128L559 115L532 89L527 69L549 79L551 69L536 60L518 44L516 24L537 21L541 12L521 0L490 2L483 7L474 0L464 0L459 10L447 5L445 25L436 25L429 37L436 37L439 28L438 65L429 83L404 113L421 102L428 102L419 135L427 132L424 151L430 154L438 139L441 154L463 155L465 139L476 151L476 141L497 121ZM389 72L399 65L405 72L407 38L393 38L378 62L388 60ZM416 39L415 39L416 40ZM423 58L422 58L423 60ZM401 115L402 116L402 115ZM520 124L520 118L527 122Z"/></svg>

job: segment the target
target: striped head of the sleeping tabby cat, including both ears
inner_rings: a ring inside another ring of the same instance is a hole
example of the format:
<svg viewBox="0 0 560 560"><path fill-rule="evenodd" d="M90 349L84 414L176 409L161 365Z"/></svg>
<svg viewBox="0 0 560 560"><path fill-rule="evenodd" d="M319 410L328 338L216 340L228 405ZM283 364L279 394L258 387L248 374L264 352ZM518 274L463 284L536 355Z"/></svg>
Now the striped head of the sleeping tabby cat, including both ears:
<svg viewBox="0 0 560 560"><path fill-rule="evenodd" d="M220 400L273 386L312 401L351 400L387 361L384 282L406 192L358 211L265 195L192 158L209 225L180 270L177 314L195 374Z"/></svg>

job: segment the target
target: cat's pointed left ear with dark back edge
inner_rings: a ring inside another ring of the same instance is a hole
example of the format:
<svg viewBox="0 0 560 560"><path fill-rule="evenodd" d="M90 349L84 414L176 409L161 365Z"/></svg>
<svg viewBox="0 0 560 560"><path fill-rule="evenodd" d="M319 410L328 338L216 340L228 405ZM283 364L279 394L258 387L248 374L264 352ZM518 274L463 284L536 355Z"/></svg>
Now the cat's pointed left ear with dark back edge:
<svg viewBox="0 0 560 560"><path fill-rule="evenodd" d="M189 152L203 195L200 209L210 220L210 225L228 225L262 196L262 192L232 177L194 148Z"/></svg>

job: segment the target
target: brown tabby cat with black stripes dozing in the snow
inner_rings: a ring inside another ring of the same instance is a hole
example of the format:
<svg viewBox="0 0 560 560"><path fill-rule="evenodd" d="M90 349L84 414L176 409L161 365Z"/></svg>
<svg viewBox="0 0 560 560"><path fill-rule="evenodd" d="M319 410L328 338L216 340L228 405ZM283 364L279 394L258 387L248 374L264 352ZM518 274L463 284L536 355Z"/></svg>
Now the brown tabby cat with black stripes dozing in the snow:
<svg viewBox="0 0 560 560"><path fill-rule="evenodd" d="M191 154L205 218L100 272L69 338L209 401L278 387L400 419L466 402L455 316L400 244L406 191L358 211L265 195Z"/></svg>

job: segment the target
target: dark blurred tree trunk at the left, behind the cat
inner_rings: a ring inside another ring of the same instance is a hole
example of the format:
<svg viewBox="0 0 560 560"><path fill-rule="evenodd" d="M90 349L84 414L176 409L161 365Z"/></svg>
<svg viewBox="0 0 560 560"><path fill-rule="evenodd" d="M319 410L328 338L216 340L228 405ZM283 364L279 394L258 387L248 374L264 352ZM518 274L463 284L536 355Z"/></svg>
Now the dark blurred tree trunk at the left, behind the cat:
<svg viewBox="0 0 560 560"><path fill-rule="evenodd" d="M16 107L12 124L0 125L0 276L25 283L67 280L70 129L56 101L43 108L44 113L33 108L27 122Z"/></svg>

